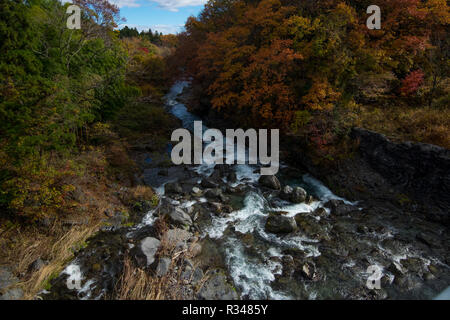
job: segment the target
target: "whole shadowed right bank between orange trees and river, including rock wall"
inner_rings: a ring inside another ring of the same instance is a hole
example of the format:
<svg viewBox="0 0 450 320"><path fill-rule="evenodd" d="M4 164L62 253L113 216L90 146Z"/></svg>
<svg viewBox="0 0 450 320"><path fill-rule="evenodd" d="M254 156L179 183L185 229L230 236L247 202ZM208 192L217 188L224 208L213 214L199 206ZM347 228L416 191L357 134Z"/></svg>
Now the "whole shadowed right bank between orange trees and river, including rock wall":
<svg viewBox="0 0 450 320"><path fill-rule="evenodd" d="M295 141L283 148L291 164L304 167L343 197L450 224L450 150L396 143L361 128L354 128L350 137L358 142L358 152L332 166L314 164L301 147L292 147Z"/></svg>

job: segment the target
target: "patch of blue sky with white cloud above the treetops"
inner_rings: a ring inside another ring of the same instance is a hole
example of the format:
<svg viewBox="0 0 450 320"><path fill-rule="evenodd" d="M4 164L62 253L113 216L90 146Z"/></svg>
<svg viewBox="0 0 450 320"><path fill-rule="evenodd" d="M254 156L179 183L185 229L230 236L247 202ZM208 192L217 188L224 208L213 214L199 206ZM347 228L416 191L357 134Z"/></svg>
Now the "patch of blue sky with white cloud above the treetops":
<svg viewBox="0 0 450 320"><path fill-rule="evenodd" d="M207 0L109 0L120 8L127 21L119 26L139 31L158 30L164 34L182 31L186 19L196 16Z"/></svg>

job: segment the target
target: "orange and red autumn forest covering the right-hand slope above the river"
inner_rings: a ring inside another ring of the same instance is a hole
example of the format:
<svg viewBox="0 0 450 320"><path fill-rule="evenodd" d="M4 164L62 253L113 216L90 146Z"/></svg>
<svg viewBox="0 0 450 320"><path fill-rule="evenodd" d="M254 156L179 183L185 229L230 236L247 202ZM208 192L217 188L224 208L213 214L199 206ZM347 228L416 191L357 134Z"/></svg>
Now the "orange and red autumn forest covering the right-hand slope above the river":
<svg viewBox="0 0 450 320"><path fill-rule="evenodd" d="M243 127L282 128L315 150L353 126L448 148L447 1L378 1L380 30L366 26L370 4L209 1L177 59L205 107Z"/></svg>

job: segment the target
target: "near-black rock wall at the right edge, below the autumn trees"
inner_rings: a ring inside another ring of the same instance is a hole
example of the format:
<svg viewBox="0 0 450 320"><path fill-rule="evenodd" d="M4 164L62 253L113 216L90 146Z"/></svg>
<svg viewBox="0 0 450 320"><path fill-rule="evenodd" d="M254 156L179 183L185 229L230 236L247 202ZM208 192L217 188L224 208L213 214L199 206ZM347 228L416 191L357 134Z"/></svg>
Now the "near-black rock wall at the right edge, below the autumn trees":
<svg viewBox="0 0 450 320"><path fill-rule="evenodd" d="M354 128L362 158L392 186L426 206L450 213L450 150L424 143L395 143L385 136Z"/></svg>

